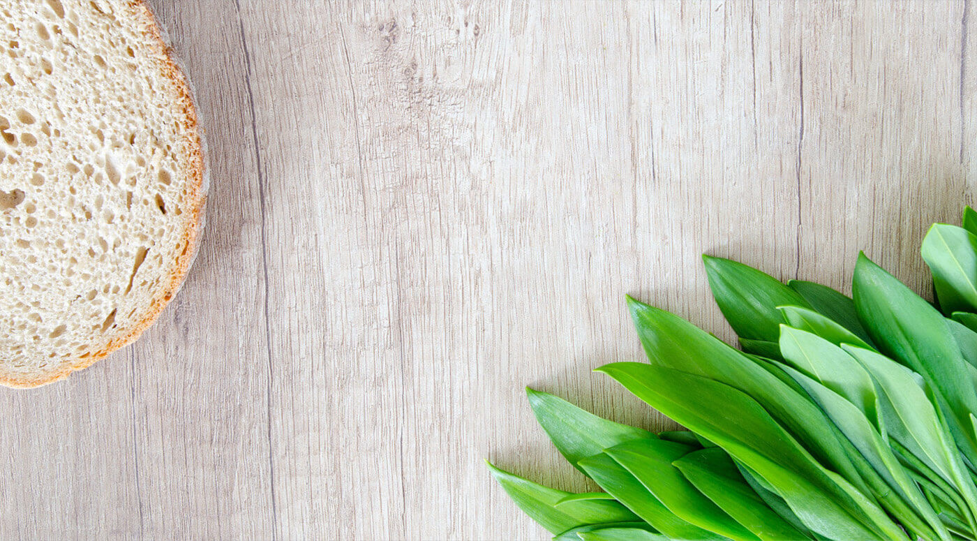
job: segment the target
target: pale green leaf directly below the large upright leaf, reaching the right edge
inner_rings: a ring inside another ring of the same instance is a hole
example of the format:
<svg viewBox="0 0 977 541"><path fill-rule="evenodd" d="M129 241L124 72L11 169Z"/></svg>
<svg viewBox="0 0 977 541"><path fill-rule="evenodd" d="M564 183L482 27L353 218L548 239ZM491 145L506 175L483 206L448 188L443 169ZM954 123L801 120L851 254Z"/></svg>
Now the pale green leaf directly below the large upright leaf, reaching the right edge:
<svg viewBox="0 0 977 541"><path fill-rule="evenodd" d="M946 423L909 368L881 354L844 345L871 374L889 437L897 440L927 468L956 487L970 511L977 511L977 488L970 479Z"/></svg>

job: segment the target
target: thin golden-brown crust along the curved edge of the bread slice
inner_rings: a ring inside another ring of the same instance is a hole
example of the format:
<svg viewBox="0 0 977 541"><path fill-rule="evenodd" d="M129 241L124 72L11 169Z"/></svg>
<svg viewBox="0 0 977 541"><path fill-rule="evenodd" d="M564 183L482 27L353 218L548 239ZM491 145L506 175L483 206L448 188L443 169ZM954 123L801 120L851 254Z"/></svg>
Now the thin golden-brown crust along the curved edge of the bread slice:
<svg viewBox="0 0 977 541"><path fill-rule="evenodd" d="M184 279L187 277L187 273L196 256L196 250L199 247L207 201L207 168L206 162L204 161L204 133L203 128L197 120L191 85L183 69L181 69L172 47L170 47L168 40L164 37L161 27L149 9L147 0L124 0L122 5L132 12L133 19L141 26L140 29L143 33L150 38L152 46L156 49L154 51L156 54L151 55L151 57L161 62L159 65L160 72L176 86L177 95L174 96L174 102L186 111L184 127L188 133L187 143L191 153L191 168L189 171L189 175L191 176L189 182L191 192L187 196L189 207L186 214L188 218L184 222L186 228L182 233L185 241L184 251L177 256L173 270L168 275L168 279L153 294L149 309L143 318L128 333L111 339L97 352L79 357L74 362L65 361L50 372L37 375L15 375L0 372L0 385L6 387L28 389L54 383L66 378L71 372L88 368L96 361L105 358L108 354L136 341L156 318L159 317L159 314L163 312L166 305L176 295L176 292L180 289Z"/></svg>

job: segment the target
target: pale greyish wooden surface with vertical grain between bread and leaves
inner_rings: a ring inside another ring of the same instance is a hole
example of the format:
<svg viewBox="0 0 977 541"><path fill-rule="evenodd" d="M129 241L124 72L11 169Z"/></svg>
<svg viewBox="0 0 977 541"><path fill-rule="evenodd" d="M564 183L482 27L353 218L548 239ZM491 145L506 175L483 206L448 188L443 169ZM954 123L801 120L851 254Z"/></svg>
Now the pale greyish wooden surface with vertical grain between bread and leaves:
<svg viewBox="0 0 977 541"><path fill-rule="evenodd" d="M143 339L0 392L2 539L545 539L489 458L587 486L523 387L590 372L630 293L731 338L700 254L847 288L977 180L956 2L153 0L213 186Z"/></svg>

